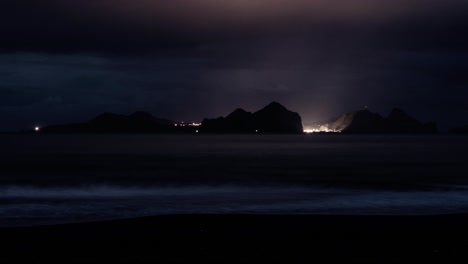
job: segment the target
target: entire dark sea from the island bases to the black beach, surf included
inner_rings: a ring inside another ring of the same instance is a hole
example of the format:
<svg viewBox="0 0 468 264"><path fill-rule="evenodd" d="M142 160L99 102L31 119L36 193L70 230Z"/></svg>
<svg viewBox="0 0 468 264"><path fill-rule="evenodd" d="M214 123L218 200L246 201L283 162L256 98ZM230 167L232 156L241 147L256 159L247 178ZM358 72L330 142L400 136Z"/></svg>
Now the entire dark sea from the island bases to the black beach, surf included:
<svg viewBox="0 0 468 264"><path fill-rule="evenodd" d="M468 137L0 135L0 226L468 213Z"/></svg>

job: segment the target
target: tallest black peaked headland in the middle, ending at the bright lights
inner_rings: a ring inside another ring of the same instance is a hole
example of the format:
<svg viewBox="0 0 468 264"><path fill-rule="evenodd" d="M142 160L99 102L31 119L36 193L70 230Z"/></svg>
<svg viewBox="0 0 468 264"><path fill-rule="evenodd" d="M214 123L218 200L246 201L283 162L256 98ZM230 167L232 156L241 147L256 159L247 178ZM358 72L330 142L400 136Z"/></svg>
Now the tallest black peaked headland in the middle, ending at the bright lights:
<svg viewBox="0 0 468 264"><path fill-rule="evenodd" d="M298 113L273 102L263 109L250 113L237 109L227 117L205 119L202 132L212 133L303 133L302 119Z"/></svg>

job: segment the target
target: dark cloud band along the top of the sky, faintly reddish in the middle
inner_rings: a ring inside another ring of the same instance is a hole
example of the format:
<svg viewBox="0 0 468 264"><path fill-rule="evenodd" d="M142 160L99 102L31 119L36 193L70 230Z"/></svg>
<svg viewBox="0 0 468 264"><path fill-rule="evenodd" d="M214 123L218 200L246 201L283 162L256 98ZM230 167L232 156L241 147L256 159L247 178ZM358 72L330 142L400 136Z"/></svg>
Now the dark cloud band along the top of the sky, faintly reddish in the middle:
<svg viewBox="0 0 468 264"><path fill-rule="evenodd" d="M180 52L310 37L324 45L464 48L468 1L7 0L3 50ZM335 44L336 45L336 44Z"/></svg>

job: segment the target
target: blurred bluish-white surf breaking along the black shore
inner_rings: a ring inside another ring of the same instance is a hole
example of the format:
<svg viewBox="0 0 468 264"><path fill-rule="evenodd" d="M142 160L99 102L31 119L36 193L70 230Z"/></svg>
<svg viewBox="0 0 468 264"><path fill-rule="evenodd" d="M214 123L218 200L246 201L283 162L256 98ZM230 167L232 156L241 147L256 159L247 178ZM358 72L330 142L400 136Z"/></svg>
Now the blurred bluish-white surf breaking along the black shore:
<svg viewBox="0 0 468 264"><path fill-rule="evenodd" d="M0 226L169 214L425 215L468 212L465 186L425 191L255 186L0 188Z"/></svg>

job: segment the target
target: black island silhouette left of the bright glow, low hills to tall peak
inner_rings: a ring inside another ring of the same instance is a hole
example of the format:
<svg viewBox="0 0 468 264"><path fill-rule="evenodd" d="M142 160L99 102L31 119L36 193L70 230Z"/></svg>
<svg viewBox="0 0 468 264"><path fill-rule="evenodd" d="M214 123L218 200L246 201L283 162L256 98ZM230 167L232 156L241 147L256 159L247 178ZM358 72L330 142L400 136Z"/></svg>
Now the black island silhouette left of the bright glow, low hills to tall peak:
<svg viewBox="0 0 468 264"><path fill-rule="evenodd" d="M36 131L39 132L39 131ZM277 102L255 113L238 108L227 117L179 123L157 118L148 112L131 115L103 113L85 123L52 125L43 133L303 133L301 116Z"/></svg>

